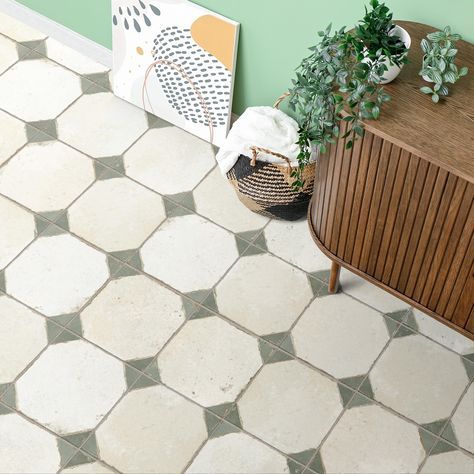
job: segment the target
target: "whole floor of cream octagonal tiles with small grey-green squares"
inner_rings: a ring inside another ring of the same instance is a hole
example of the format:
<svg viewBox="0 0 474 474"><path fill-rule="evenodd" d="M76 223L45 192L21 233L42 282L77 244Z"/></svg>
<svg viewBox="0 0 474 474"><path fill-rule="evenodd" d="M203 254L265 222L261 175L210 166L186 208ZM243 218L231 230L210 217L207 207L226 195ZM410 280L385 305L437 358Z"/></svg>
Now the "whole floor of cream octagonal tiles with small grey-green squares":
<svg viewBox="0 0 474 474"><path fill-rule="evenodd" d="M472 342L0 25L1 473L474 472Z"/></svg>

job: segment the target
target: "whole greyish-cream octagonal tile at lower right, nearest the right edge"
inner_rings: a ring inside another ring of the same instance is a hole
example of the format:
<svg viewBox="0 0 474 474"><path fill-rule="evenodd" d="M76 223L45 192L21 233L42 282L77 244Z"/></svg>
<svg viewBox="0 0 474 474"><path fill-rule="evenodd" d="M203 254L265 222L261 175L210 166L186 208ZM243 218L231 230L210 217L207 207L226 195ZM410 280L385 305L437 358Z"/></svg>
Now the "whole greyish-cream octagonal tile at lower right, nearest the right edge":
<svg viewBox="0 0 474 474"><path fill-rule="evenodd" d="M370 380L377 400L417 423L449 417L469 381L458 355L418 335L394 339Z"/></svg>

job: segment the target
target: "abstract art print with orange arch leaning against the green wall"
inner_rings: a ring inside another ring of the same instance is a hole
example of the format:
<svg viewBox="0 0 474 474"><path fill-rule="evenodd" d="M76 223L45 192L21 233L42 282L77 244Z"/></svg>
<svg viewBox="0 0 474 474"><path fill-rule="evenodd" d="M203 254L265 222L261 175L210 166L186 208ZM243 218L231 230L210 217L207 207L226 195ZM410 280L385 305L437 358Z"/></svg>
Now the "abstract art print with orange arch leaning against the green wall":
<svg viewBox="0 0 474 474"><path fill-rule="evenodd" d="M187 0L113 0L112 23L115 94L222 145L239 24Z"/></svg>

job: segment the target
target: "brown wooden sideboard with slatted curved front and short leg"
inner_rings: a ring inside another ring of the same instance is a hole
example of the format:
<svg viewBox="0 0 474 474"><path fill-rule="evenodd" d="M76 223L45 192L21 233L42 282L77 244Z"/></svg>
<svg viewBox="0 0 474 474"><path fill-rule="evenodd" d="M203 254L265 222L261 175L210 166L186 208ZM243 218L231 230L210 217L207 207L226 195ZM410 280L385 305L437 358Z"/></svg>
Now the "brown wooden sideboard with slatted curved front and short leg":
<svg viewBox="0 0 474 474"><path fill-rule="evenodd" d="M434 104L418 71L435 28L397 23L410 62L365 136L319 158L310 229L333 261L330 291L343 266L474 339L474 45L458 43L469 74Z"/></svg>

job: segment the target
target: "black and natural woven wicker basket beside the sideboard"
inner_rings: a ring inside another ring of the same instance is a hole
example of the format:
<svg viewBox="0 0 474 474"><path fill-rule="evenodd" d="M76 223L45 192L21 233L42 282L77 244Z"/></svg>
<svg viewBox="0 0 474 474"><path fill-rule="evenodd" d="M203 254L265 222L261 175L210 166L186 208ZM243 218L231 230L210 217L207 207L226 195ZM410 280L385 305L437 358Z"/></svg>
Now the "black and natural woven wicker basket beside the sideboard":
<svg viewBox="0 0 474 474"><path fill-rule="evenodd" d="M288 94L281 96L274 107L278 108ZM266 148L252 147L250 158L240 155L227 178L234 187L240 201L250 210L268 217L295 221L306 215L313 194L315 162L307 164L302 173L304 186L295 191L291 178L290 160ZM281 158L286 164L257 161L259 152Z"/></svg>

